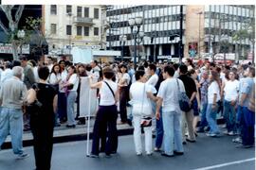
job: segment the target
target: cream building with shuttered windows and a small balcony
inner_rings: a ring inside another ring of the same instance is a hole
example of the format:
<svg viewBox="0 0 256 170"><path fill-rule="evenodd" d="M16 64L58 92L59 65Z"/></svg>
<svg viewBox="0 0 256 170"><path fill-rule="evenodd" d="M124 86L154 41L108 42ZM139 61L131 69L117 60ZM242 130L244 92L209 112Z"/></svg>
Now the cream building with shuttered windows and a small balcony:
<svg viewBox="0 0 256 170"><path fill-rule="evenodd" d="M70 54L71 46L104 49L104 6L46 5L43 18L50 55Z"/></svg>

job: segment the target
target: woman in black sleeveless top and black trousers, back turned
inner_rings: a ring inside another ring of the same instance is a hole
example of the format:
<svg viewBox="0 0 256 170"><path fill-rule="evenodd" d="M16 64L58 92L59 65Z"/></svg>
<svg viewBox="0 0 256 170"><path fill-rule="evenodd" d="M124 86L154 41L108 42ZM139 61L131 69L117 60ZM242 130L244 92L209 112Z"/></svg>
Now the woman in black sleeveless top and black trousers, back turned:
<svg viewBox="0 0 256 170"><path fill-rule="evenodd" d="M47 84L46 79L49 76L48 67L40 67L38 76L40 78L39 83L34 84L27 92L27 103L31 105L38 101L41 107L39 107L39 110L27 111L30 113L36 170L49 170L58 92L53 86Z"/></svg>

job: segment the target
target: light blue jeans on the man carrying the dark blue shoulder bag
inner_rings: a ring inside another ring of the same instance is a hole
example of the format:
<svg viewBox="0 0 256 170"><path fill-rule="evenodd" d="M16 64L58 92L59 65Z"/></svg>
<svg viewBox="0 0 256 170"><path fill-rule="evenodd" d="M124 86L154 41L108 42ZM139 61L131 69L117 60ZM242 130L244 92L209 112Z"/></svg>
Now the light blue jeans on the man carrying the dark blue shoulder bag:
<svg viewBox="0 0 256 170"><path fill-rule="evenodd" d="M181 132L181 113L176 111L163 112L164 129L164 152L174 155L174 150L183 152L182 132Z"/></svg>

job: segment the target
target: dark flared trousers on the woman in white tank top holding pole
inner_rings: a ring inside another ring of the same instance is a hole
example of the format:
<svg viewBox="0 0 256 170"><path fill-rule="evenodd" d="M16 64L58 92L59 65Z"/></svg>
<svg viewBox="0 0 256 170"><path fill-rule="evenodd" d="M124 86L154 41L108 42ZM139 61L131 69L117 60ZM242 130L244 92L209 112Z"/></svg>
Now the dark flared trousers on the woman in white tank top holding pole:
<svg viewBox="0 0 256 170"><path fill-rule="evenodd" d="M96 115L96 120L93 128L93 143L91 153L99 155L100 139L105 141L105 154L117 152L118 149L118 129L117 129L118 111L117 106L100 106ZM102 145L101 145L101 148Z"/></svg>

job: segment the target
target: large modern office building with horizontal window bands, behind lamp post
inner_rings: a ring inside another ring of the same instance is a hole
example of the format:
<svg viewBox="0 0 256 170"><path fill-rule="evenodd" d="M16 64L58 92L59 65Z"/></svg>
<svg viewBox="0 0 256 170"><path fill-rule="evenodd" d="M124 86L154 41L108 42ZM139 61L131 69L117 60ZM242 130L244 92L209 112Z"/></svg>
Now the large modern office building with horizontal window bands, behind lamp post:
<svg viewBox="0 0 256 170"><path fill-rule="evenodd" d="M248 39L234 41L234 33L253 23L254 6L206 5L183 6L183 56L201 58L206 54L236 53L247 55ZM113 6L107 9L107 46L123 50L123 56L133 57L134 39L128 24L130 18L141 16L140 30L144 38L137 45L137 54L145 59L170 59L179 55L180 6ZM255 23L255 22L254 22ZM120 43L120 36L127 41ZM225 42L225 43L224 43Z"/></svg>

